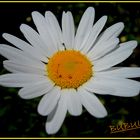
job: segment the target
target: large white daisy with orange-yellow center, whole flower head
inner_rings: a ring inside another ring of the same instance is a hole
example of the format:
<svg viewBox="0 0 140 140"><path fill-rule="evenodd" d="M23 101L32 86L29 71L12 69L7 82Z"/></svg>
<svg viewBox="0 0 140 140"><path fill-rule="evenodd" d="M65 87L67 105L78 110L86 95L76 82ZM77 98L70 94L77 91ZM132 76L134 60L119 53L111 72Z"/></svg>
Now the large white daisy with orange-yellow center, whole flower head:
<svg viewBox="0 0 140 140"><path fill-rule="evenodd" d="M139 94L140 83L128 78L140 77L140 68L114 67L132 54L137 42L119 44L124 24L116 23L101 33L107 16L93 24L94 16L94 8L89 7L75 34L71 12L63 12L62 30L50 11L45 17L33 12L38 33L28 25L20 26L29 43L3 34L15 47L0 45L1 55L8 59L4 67L12 72L0 76L0 84L22 87L19 96L24 99L43 95L38 112L48 115L48 134L60 129L67 111L80 115L82 105L91 115L105 117L107 111L94 93L122 97Z"/></svg>

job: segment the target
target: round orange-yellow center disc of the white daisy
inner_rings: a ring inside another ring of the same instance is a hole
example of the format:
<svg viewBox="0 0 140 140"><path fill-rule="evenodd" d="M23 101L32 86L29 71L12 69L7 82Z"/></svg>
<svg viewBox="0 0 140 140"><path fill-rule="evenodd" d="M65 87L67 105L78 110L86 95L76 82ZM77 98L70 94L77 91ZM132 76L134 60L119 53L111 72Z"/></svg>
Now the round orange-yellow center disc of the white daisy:
<svg viewBox="0 0 140 140"><path fill-rule="evenodd" d="M78 88L92 76L92 64L79 51L58 51L49 60L49 78L61 88Z"/></svg>

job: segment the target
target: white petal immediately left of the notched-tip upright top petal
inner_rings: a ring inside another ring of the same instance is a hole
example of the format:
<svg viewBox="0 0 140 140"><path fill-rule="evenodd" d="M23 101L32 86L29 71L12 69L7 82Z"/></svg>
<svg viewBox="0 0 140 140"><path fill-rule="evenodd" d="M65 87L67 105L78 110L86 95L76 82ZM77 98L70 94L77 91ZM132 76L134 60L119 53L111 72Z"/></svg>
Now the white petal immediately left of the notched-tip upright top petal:
<svg viewBox="0 0 140 140"><path fill-rule="evenodd" d="M63 43L63 41L62 41L62 31L61 31L61 28L59 26L59 23L58 23L55 15L50 11L46 11L45 12L45 19L48 22L49 27L51 28L54 40L59 45L58 46L59 49L63 50L64 46L61 45Z"/></svg>

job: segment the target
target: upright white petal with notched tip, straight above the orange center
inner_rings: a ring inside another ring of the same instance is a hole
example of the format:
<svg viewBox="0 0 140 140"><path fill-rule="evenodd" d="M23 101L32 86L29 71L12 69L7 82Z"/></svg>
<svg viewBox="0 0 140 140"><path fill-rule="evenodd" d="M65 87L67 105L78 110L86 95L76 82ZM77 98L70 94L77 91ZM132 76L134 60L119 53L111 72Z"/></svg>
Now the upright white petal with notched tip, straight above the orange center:
<svg viewBox="0 0 140 140"><path fill-rule="evenodd" d="M75 27L71 12L63 12L62 15L62 34L66 49L73 49Z"/></svg>

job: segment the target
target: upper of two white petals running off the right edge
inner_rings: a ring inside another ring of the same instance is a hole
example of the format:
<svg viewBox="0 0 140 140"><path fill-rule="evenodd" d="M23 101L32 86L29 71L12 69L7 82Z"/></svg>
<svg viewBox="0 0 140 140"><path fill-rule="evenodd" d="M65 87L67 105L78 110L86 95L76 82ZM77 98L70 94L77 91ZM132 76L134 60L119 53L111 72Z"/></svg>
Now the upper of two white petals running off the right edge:
<svg viewBox="0 0 140 140"><path fill-rule="evenodd" d="M140 77L140 68L138 67L113 67L107 71L98 72L98 74L110 77L136 78Z"/></svg>

